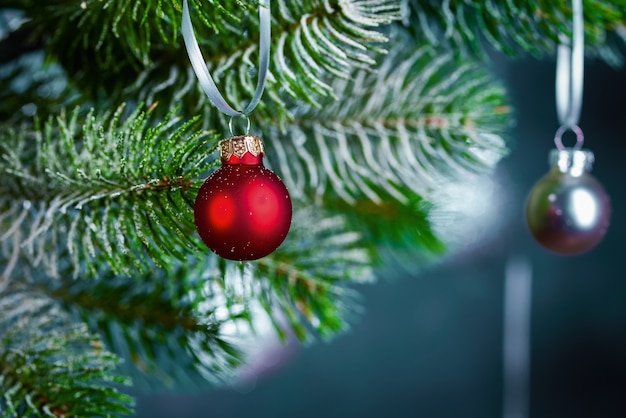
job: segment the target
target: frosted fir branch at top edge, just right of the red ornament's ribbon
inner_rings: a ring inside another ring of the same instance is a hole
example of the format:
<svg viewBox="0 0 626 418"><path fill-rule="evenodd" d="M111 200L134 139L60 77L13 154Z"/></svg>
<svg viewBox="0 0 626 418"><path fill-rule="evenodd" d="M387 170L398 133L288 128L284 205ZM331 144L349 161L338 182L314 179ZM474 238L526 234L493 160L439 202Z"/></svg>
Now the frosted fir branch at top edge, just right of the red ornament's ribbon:
<svg viewBox="0 0 626 418"><path fill-rule="evenodd" d="M316 105L319 97L336 97L330 77L345 79L353 68L375 64L368 50L384 52L387 42L379 28L401 17L399 4L388 0L277 3L273 74L291 96Z"/></svg>

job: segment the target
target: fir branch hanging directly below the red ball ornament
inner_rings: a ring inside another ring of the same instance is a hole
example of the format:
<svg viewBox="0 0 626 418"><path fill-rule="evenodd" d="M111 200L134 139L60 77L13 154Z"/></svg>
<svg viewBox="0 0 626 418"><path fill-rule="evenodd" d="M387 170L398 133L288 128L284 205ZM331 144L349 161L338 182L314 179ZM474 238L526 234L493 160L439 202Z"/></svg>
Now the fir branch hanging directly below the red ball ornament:
<svg viewBox="0 0 626 418"><path fill-rule="evenodd" d="M58 301L123 360L135 385L170 390L232 382L260 341L261 324L282 337L330 338L358 310L351 287L374 280L360 233L338 215L296 210L287 241L261 260L208 253L134 277L100 269L97 280L34 274L31 288ZM321 247L320 247L321 245Z"/></svg>

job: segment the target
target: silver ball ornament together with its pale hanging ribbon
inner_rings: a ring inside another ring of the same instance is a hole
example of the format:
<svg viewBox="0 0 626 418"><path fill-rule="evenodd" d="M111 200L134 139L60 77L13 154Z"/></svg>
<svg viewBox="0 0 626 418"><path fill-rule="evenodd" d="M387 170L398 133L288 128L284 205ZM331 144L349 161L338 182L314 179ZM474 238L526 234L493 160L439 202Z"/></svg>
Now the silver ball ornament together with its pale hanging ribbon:
<svg viewBox="0 0 626 418"><path fill-rule="evenodd" d="M590 174L591 151L583 150L578 126L583 101L583 1L572 0L571 37L562 34L556 60L556 110L561 127L550 154L552 169L531 190L526 221L537 242L563 255L581 254L595 247L611 221L611 204L604 187ZM576 134L573 148L563 146L566 131Z"/></svg>

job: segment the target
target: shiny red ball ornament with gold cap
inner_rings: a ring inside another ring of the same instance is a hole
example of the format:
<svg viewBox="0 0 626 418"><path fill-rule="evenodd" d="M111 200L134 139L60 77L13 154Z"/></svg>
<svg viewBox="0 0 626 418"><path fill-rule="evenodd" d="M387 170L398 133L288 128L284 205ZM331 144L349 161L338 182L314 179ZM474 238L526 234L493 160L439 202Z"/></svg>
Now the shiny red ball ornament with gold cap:
<svg viewBox="0 0 626 418"><path fill-rule="evenodd" d="M257 260L284 241L291 198L280 178L263 166L258 136L220 142L222 166L200 187L194 205L204 243L229 260Z"/></svg>

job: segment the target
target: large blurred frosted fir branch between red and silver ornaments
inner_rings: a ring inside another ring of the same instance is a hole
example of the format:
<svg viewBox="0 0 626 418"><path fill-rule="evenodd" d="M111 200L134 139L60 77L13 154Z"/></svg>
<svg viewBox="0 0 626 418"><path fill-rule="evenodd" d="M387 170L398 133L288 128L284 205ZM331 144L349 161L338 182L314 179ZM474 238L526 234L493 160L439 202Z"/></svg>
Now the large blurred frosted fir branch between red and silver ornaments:
<svg viewBox="0 0 626 418"><path fill-rule="evenodd" d="M407 51L401 39L378 72L333 83L344 100L304 108L283 132L270 128L296 197L405 204L408 189L428 200L443 180L486 172L504 155L503 89L473 62L430 47Z"/></svg>

